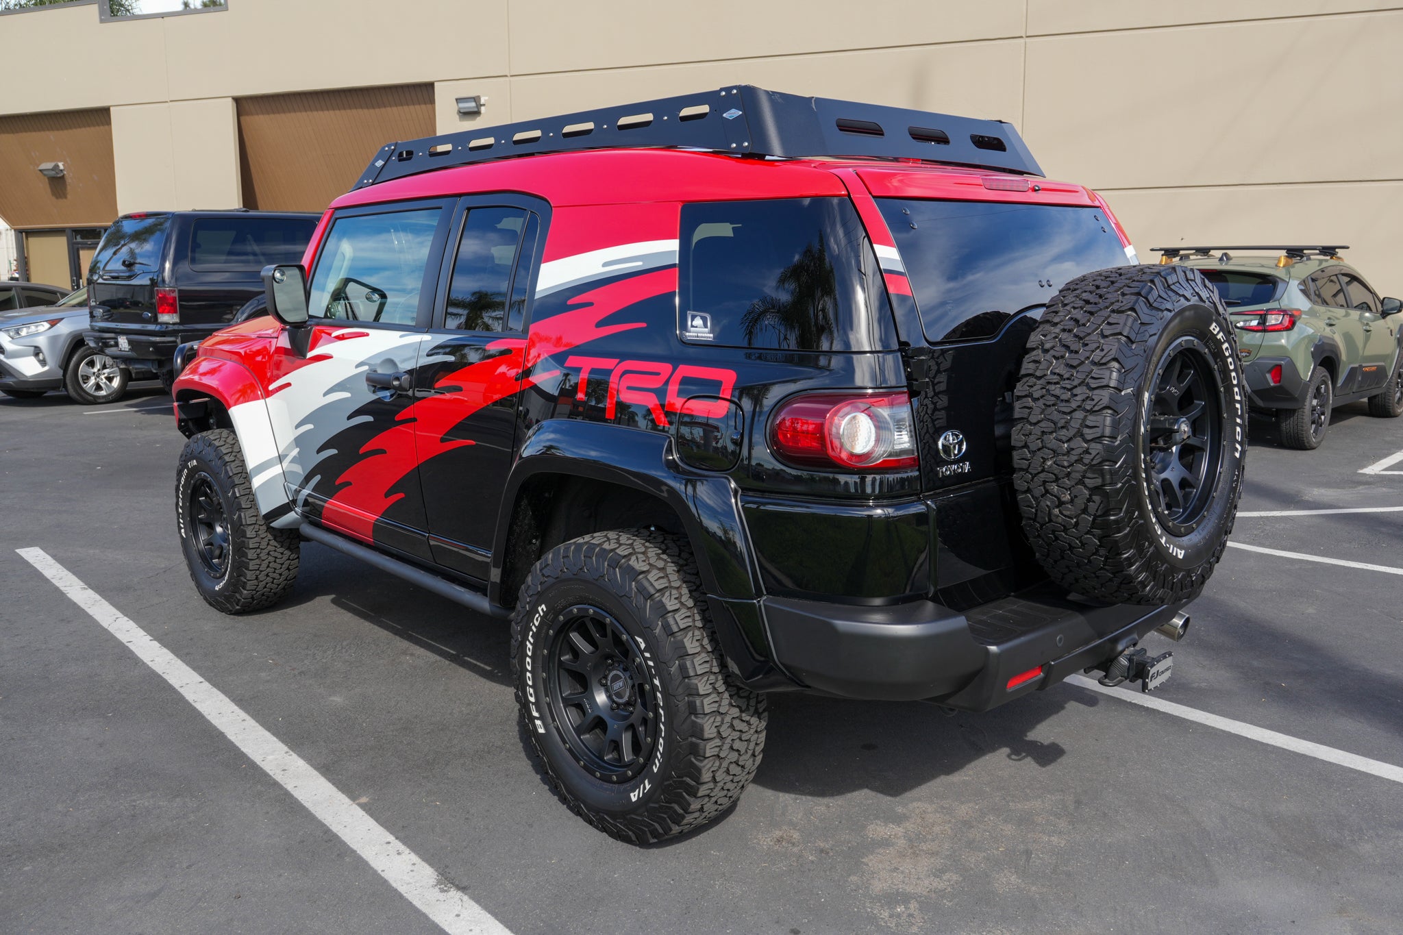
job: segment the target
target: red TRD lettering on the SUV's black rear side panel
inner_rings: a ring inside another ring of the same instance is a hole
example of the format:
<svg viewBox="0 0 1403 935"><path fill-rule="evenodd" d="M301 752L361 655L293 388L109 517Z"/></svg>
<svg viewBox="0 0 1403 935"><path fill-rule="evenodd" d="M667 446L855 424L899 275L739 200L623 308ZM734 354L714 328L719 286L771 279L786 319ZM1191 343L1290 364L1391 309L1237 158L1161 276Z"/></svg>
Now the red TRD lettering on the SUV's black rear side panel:
<svg viewBox="0 0 1403 935"><path fill-rule="evenodd" d="M662 360L623 360L616 357L584 357L571 356L565 359L565 366L579 370L579 381L575 387L575 401L586 402L591 373L596 376L609 370L609 393L605 397L605 418L613 421L619 402L647 407L652 421L661 428L668 428L668 412L682 412L683 404L690 397L717 395L730 397L735 388L735 370L721 367L702 367L692 363L680 363L673 367ZM671 378L669 378L671 377ZM704 390L693 388L683 395L682 381L690 380L693 387L697 383L710 383ZM658 400L657 390L666 385L662 401ZM686 409L692 415L707 418L721 418L730 408L723 400L697 400Z"/></svg>

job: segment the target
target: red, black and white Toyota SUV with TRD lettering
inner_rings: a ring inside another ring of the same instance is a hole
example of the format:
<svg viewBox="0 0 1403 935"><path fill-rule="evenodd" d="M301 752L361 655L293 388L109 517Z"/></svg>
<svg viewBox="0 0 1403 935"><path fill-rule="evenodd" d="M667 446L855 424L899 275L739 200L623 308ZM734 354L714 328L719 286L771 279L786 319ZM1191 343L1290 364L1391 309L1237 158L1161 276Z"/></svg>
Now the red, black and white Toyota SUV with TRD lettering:
<svg viewBox="0 0 1403 935"><path fill-rule="evenodd" d="M765 692L1153 687L1237 505L1218 293L995 121L727 87L394 143L175 383L195 586L303 538L509 618L627 841L751 781Z"/></svg>

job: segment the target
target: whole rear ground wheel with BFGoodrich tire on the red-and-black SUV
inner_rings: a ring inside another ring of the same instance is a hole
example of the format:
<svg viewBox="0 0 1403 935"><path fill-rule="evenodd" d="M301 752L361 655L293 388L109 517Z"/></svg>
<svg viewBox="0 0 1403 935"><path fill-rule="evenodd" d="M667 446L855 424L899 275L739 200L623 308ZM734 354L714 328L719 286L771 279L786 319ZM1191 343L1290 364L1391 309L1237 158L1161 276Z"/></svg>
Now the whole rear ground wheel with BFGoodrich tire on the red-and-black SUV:
<svg viewBox="0 0 1403 935"><path fill-rule="evenodd" d="M707 824L760 764L765 697L725 667L675 535L595 533L547 552L512 617L512 669L546 781L622 841Z"/></svg>

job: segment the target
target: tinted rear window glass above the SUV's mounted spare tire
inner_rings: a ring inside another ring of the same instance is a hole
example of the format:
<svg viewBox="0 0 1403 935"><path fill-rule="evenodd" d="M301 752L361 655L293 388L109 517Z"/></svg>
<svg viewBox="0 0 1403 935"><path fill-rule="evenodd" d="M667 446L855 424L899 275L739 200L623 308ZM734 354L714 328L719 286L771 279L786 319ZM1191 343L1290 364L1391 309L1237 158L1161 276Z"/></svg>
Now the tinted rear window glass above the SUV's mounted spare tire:
<svg viewBox="0 0 1403 935"><path fill-rule="evenodd" d="M988 338L1082 273L1127 264L1097 207L882 198L930 341Z"/></svg>

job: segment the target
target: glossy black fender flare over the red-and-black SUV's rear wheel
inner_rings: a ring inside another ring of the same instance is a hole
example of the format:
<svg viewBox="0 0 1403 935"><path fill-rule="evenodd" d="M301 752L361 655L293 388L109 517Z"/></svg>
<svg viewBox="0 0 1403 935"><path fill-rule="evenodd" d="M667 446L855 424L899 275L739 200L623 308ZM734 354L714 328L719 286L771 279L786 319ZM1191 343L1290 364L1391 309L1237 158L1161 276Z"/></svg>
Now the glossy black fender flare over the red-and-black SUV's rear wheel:
<svg viewBox="0 0 1403 935"><path fill-rule="evenodd" d="M540 474L584 477L648 493L682 520L721 649L746 681L770 670L759 575L731 478L682 467L672 436L582 419L549 419L522 443L502 493L488 596L502 600L502 566L523 485Z"/></svg>

